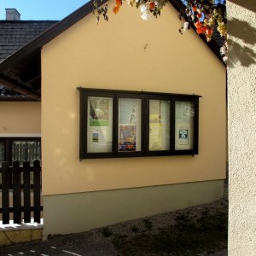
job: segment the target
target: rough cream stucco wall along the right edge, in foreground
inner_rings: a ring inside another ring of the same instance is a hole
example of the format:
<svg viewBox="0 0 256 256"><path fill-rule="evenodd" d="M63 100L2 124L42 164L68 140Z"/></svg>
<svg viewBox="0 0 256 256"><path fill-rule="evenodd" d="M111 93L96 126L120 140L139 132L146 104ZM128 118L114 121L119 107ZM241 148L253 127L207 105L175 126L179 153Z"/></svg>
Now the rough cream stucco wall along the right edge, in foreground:
<svg viewBox="0 0 256 256"><path fill-rule="evenodd" d="M256 253L256 3L227 2L229 255Z"/></svg>

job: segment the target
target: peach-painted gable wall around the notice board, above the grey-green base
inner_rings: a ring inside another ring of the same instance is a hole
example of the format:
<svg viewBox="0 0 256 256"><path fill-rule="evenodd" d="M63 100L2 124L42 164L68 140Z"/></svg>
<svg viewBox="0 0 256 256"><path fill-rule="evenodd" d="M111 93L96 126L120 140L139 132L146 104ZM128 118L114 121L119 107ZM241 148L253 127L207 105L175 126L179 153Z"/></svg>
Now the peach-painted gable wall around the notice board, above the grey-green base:
<svg viewBox="0 0 256 256"><path fill-rule="evenodd" d="M195 32L183 36L178 33L177 10L171 4L159 20L145 22L138 9L127 5L119 15L110 15L108 22L98 26L96 16L87 15L42 49L45 195L220 177L223 166L213 164L209 152L218 151L218 158L223 157L219 163L224 163L225 152L219 148L225 143L224 65ZM183 163L177 157L79 162L79 86L202 96L199 131L203 127L204 132L200 134L200 154ZM216 133L222 134L218 140ZM211 134L215 139L209 142ZM201 161L212 165L202 170ZM195 172L189 172L189 164L195 165ZM158 175L158 165L170 168L170 172ZM72 176L67 174L71 169ZM183 171L171 172L174 169ZM93 182L90 173L95 177ZM62 186L51 185L57 179Z"/></svg>

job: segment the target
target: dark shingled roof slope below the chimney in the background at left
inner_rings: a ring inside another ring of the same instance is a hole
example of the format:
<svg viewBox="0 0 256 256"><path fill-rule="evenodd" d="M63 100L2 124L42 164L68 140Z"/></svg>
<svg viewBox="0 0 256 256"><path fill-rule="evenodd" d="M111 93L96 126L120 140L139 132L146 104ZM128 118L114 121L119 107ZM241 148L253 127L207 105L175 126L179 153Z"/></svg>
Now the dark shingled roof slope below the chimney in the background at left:
<svg viewBox="0 0 256 256"><path fill-rule="evenodd" d="M0 20L0 62L55 23L54 20Z"/></svg>

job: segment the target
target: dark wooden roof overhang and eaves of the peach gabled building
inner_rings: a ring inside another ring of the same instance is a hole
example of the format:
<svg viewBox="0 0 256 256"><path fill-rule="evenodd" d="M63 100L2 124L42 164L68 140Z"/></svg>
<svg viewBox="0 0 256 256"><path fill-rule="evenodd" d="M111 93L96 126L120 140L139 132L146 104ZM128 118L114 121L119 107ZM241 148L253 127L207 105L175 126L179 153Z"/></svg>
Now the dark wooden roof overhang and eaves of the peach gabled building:
<svg viewBox="0 0 256 256"><path fill-rule="evenodd" d="M106 2L108 0L102 0L101 4ZM169 0L169 2L177 11L184 11L185 7L180 0ZM13 86L14 90L19 90L21 93L25 92L27 95L39 98L41 91L41 48L61 32L67 30L68 27L89 15L92 10L93 1L91 0L38 37L32 39L31 42L21 47L13 55L9 55L7 59L0 63L0 82L8 83L9 86ZM214 39L207 43L205 37L201 36L201 38L221 60L218 43Z"/></svg>

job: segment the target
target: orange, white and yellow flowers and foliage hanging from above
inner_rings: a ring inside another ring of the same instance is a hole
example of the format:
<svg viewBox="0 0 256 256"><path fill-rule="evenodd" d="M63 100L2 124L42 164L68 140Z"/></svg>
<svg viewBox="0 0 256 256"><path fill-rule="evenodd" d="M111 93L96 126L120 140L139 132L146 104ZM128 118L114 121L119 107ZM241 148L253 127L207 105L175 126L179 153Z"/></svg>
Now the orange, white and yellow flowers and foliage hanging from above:
<svg viewBox="0 0 256 256"><path fill-rule="evenodd" d="M98 24L100 16L108 21L108 5L99 7L97 1L94 1L94 11L96 11L96 22ZM122 0L114 0L113 13L116 15L123 4ZM124 0L125 1L125 0ZM141 18L149 20L151 16L158 18L161 10L166 6L167 0L126 0L131 7L140 8ZM204 34L207 42L212 40L212 34L215 29L220 36L224 38L224 44L220 49L223 61L227 61L227 27L226 27L226 7L225 0L180 0L185 6L185 12L179 13L178 18L182 20L179 32L183 34L191 26L195 26L198 34ZM187 20L187 21L183 21Z"/></svg>

